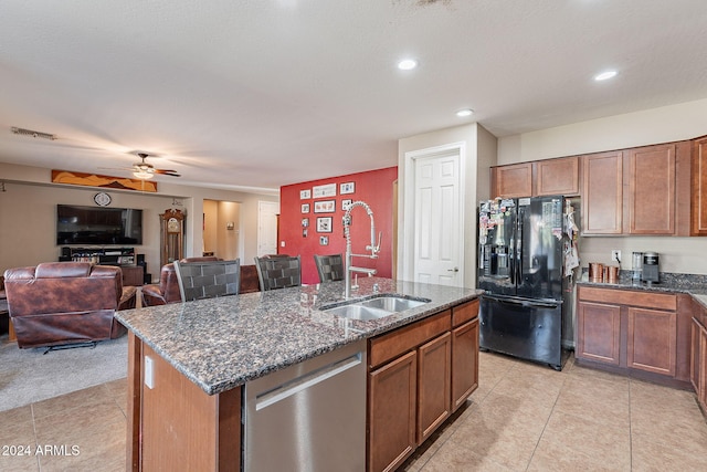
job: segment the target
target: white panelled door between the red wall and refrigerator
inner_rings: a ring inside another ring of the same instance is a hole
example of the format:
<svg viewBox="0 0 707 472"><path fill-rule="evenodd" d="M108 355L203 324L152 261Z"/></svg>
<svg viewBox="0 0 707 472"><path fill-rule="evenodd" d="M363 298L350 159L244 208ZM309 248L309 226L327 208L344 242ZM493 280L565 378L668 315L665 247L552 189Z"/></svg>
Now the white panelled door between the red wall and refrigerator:
<svg viewBox="0 0 707 472"><path fill-rule="evenodd" d="M414 281L463 286L461 155L419 156L414 166Z"/></svg>

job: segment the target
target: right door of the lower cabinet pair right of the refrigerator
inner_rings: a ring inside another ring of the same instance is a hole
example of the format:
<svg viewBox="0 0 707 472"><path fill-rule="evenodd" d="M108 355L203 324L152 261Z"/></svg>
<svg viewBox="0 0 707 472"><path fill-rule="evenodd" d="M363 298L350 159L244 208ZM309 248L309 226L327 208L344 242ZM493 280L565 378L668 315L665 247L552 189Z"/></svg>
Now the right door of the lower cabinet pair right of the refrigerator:
<svg viewBox="0 0 707 472"><path fill-rule="evenodd" d="M627 333L627 367L675 376L675 312L629 307Z"/></svg>

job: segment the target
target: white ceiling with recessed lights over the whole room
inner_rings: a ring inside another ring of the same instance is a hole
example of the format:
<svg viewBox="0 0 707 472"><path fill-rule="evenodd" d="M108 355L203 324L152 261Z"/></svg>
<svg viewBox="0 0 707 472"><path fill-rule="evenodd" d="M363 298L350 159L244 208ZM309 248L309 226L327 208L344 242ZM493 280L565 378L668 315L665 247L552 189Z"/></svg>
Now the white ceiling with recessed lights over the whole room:
<svg viewBox="0 0 707 472"><path fill-rule="evenodd" d="M390 167L430 130L705 98L705 24L704 0L3 2L0 161L130 177L143 150L245 190Z"/></svg>

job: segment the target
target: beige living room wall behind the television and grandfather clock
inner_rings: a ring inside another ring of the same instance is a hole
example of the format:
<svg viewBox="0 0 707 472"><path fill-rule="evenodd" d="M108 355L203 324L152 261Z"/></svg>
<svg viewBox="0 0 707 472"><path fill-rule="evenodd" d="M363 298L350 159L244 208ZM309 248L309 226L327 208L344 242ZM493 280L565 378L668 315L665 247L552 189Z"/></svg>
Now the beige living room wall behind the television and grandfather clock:
<svg viewBox="0 0 707 472"><path fill-rule="evenodd" d="M279 200L278 193L247 193L162 182L158 183L157 193L55 185L51 183L51 169L3 162L0 162L0 176L6 187L6 191L0 192L0 274L9 268L56 261L60 255L55 241L56 203L94 206L93 196L98 190L113 197L112 207L143 209L144 244L136 247L136 251L145 254L154 280L159 277L159 214L165 210L175 207L186 212L184 255L194 256L201 255L203 248L203 201L239 202L243 247L236 248L241 260L252 261L257 253L257 202ZM175 201L177 206L172 204ZM230 213L235 218L234 214ZM235 234L236 231L229 233Z"/></svg>

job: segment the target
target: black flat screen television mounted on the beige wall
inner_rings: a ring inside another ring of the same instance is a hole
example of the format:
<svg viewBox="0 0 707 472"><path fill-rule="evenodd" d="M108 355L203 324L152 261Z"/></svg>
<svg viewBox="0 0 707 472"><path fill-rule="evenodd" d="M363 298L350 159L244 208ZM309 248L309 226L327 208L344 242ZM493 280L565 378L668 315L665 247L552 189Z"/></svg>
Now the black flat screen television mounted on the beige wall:
<svg viewBox="0 0 707 472"><path fill-rule="evenodd" d="M56 244L143 244L143 210L57 204Z"/></svg>

